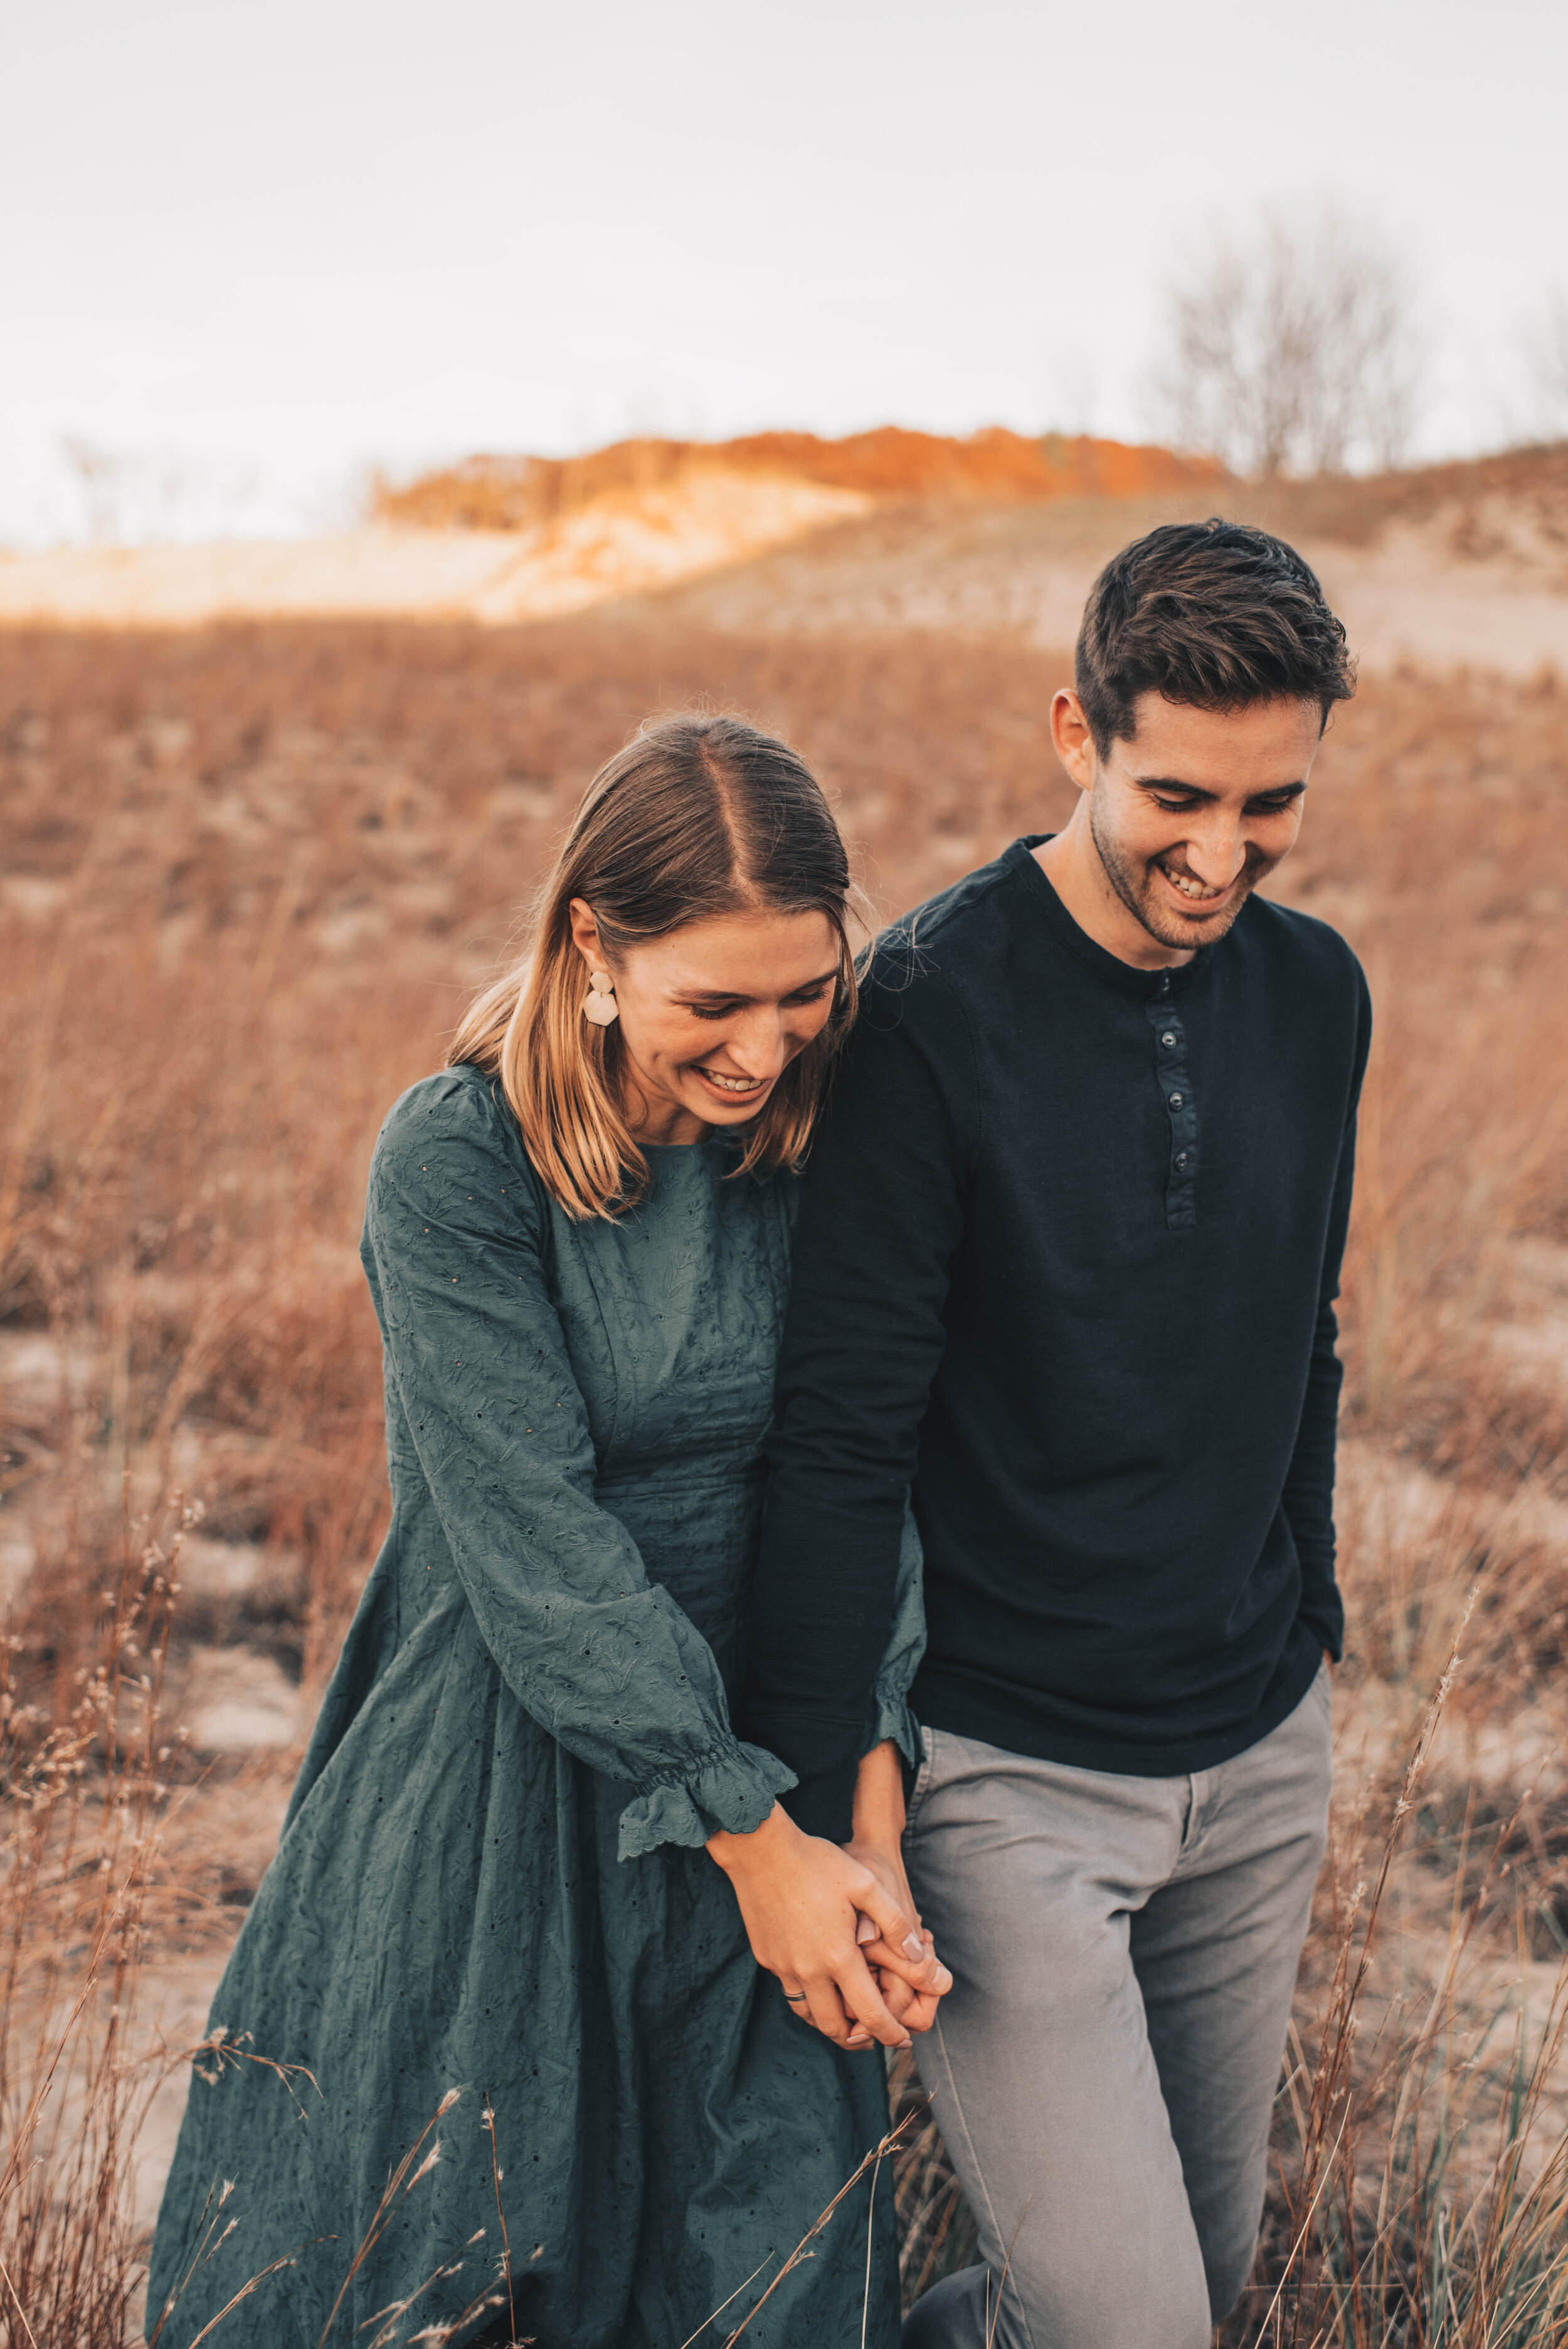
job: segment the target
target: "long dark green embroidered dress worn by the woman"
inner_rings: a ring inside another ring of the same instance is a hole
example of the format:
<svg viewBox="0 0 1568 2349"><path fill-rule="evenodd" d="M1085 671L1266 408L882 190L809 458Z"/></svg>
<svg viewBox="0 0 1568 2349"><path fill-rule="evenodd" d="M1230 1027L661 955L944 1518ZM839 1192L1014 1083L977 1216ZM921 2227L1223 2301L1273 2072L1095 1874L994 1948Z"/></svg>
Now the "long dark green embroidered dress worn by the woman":
<svg viewBox="0 0 1568 2349"><path fill-rule="evenodd" d="M343 2340L404 2300L390 2340L451 2323L505 2274L505 2217L540 2349L709 2349L885 2128L880 2051L789 2011L702 1851L793 1783L730 1701L796 1186L732 1163L723 1139L655 1149L636 1210L573 1224L474 1069L383 1128L361 1254L392 1527L211 2013L305 2069L192 2079L148 2290L150 2323L178 2290L164 2349L282 2255L221 2340L315 2349L451 2088ZM911 1534L876 1689L906 1752L920 1644ZM892 2349L890 2178L871 2225L869 2187L847 2196L746 2342L859 2340L869 2243L866 2340Z"/></svg>

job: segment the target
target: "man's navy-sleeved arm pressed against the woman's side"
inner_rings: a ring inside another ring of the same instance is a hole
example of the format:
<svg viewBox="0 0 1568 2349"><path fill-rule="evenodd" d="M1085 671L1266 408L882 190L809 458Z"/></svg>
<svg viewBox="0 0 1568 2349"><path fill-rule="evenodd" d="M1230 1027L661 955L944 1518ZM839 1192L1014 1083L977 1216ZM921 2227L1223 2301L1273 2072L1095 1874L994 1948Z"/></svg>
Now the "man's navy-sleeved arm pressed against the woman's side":
<svg viewBox="0 0 1568 2349"><path fill-rule="evenodd" d="M976 1128L953 991L932 970L873 980L800 1198L742 1708L800 1778L793 1818L833 1842L873 1734Z"/></svg>

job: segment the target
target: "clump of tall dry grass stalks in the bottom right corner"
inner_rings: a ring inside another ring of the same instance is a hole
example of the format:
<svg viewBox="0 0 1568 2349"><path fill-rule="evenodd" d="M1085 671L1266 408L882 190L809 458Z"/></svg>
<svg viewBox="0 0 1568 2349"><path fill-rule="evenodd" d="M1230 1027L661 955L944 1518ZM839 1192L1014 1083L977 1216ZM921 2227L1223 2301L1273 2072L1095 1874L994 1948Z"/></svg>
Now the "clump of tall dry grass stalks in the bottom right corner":
<svg viewBox="0 0 1568 2349"><path fill-rule="evenodd" d="M1474 1604L1472 1590L1458 1637ZM1331 1872L1333 1971L1314 2062L1293 2034L1275 2257L1261 2262L1268 2304L1228 2330L1249 2349L1545 2349L1568 2337L1568 1968L1556 1968L1535 2025L1528 1947L1500 1999L1486 1971L1465 1990L1512 1820L1474 1893L1465 1896L1462 1865L1455 1875L1448 1947L1422 2008L1392 1999L1368 2013L1373 1945L1455 1687L1458 1637L1399 1783L1371 1898L1364 1882L1345 1891L1345 1856ZM1512 2046L1498 2065L1488 2046L1509 2006Z"/></svg>

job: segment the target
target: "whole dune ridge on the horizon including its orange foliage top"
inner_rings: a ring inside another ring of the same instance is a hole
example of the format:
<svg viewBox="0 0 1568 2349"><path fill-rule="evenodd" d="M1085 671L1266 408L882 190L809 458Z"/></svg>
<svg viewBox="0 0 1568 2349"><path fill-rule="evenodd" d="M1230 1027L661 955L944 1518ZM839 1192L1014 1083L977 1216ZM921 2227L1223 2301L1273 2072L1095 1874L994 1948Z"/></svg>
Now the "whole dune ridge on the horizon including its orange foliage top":
<svg viewBox="0 0 1568 2349"><path fill-rule="evenodd" d="M883 432L723 451L636 442L554 467L477 458L383 496L376 524L338 538L0 557L0 625L514 625L657 597L739 634L934 630L1066 646L1117 545L1218 507L1303 547L1368 669L1568 677L1561 449L1272 489L1169 451L1063 451L1052 470L1016 435ZM765 470L763 453L803 470ZM439 514L446 526L432 526ZM507 526L477 526L486 514Z"/></svg>

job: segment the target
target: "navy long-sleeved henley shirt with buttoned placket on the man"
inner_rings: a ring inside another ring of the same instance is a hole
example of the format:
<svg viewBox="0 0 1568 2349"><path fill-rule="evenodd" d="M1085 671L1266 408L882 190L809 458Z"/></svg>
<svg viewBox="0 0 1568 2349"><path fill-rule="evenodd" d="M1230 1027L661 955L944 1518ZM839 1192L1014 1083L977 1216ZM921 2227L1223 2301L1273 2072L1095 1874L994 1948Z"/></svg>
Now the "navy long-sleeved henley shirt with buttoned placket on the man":
<svg viewBox="0 0 1568 2349"><path fill-rule="evenodd" d="M1361 968L1251 897L1138 970L1035 846L878 940L805 1172L744 1719L836 1839L911 1489L937 1729L1176 1776L1340 1651Z"/></svg>

